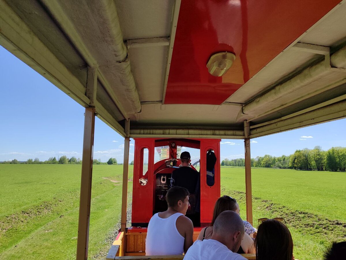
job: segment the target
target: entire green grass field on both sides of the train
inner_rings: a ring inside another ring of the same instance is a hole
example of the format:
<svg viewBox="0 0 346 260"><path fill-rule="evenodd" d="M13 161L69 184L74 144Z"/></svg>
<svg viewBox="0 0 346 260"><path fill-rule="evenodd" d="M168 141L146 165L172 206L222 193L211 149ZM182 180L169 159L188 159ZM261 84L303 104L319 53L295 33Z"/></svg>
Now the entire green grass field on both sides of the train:
<svg viewBox="0 0 346 260"><path fill-rule="evenodd" d="M80 173L80 165L0 164L0 259L75 259ZM121 165L93 166L90 259L110 247L121 175ZM284 217L295 258L322 259L331 241L346 240L345 173L253 168L252 190L254 226ZM223 194L239 201L245 219L244 168L221 167Z"/></svg>

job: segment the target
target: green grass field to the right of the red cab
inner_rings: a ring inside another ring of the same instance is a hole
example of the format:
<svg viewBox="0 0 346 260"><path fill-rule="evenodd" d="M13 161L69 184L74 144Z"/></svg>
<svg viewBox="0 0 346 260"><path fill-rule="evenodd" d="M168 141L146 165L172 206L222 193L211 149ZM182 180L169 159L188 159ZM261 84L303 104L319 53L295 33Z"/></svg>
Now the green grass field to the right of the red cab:
<svg viewBox="0 0 346 260"><path fill-rule="evenodd" d="M284 217L295 258L322 259L332 241L346 240L346 174L252 169L253 219ZM240 203L245 219L245 169L221 167L221 194Z"/></svg>

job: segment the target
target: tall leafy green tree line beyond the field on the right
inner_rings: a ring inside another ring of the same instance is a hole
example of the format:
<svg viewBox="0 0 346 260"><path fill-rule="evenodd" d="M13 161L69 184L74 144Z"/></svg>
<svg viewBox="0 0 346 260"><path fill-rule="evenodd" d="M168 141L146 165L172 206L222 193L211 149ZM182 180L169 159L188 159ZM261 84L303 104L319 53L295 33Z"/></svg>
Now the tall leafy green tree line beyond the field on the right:
<svg viewBox="0 0 346 260"><path fill-rule="evenodd" d="M224 159L221 166L245 166L244 158ZM346 170L346 147L331 147L324 151L320 146L313 149L295 150L291 155L257 156L251 158L251 167L295 169L305 171L342 171Z"/></svg>

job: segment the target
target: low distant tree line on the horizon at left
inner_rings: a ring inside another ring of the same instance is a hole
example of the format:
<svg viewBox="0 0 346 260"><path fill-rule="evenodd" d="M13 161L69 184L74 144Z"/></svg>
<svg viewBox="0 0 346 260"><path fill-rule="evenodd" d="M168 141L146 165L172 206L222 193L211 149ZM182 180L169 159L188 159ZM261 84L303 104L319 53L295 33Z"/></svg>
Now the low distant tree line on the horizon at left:
<svg viewBox="0 0 346 260"><path fill-rule="evenodd" d="M4 161L0 162L2 164L82 164L82 160L80 158L76 158L72 156L71 158L68 158L66 155L61 156L56 159L56 157L49 157L46 161L40 161L37 157L35 159L27 159L25 162L20 162L17 159L13 159L12 161ZM118 164L116 158L109 158L107 163L101 162L101 159L93 159L92 164Z"/></svg>

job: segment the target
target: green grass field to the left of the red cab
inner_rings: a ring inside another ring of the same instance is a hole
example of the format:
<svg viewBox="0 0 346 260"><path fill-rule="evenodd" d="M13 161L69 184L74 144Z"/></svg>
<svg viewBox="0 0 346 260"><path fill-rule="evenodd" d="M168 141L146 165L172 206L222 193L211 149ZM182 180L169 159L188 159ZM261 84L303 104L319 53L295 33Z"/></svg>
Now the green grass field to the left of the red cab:
<svg viewBox="0 0 346 260"><path fill-rule="evenodd" d="M81 165L0 165L0 259L75 259L80 175ZM90 258L119 221L121 180L121 165L93 166Z"/></svg>

